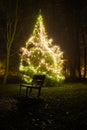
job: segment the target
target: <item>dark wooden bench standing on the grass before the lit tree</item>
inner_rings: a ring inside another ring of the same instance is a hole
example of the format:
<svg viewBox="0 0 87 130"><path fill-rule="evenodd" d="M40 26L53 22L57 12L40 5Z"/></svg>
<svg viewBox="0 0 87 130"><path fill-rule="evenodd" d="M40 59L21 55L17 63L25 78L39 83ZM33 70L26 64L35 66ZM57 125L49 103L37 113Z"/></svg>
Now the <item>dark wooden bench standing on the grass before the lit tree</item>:
<svg viewBox="0 0 87 130"><path fill-rule="evenodd" d="M31 95L32 89L38 90L37 97L39 98L41 93L41 87L43 86L45 75L34 75L31 83L20 84L19 96L21 95L22 88L26 88L26 96ZM29 93L28 93L29 90Z"/></svg>

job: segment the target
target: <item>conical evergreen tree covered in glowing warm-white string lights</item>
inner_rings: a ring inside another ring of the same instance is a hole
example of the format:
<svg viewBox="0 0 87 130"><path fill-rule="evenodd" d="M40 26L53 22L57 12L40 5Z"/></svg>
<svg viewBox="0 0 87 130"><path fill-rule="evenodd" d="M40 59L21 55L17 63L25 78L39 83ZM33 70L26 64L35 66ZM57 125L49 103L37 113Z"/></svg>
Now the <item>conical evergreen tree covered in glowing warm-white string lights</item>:
<svg viewBox="0 0 87 130"><path fill-rule="evenodd" d="M26 46L21 48L19 69L23 72L26 82L30 82L34 74L45 74L49 81L64 80L63 52L52 42L52 39L48 39L43 17L39 14L32 36L26 42Z"/></svg>

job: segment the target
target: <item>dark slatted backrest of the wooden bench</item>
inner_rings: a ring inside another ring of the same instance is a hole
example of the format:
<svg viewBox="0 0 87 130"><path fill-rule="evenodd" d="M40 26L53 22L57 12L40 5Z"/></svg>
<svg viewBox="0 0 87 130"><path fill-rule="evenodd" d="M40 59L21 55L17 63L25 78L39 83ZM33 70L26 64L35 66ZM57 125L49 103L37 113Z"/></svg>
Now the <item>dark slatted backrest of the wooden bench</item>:
<svg viewBox="0 0 87 130"><path fill-rule="evenodd" d="M34 75L32 85L35 87L42 87L45 80L45 75Z"/></svg>

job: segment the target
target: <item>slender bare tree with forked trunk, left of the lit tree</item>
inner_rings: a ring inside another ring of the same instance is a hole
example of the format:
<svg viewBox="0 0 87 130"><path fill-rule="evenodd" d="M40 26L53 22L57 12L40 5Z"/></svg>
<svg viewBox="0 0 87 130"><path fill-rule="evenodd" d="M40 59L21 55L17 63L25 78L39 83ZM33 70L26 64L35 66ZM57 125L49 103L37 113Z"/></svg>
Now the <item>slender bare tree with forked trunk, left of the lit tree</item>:
<svg viewBox="0 0 87 130"><path fill-rule="evenodd" d="M15 9L15 17L12 19L9 14L7 14L7 21L6 21L6 64L5 64L5 75L3 79L3 83L7 82L7 76L9 72L9 63L10 63L10 53L12 43L15 38L15 33L17 29L17 22L18 22L18 0L16 1L16 9Z"/></svg>

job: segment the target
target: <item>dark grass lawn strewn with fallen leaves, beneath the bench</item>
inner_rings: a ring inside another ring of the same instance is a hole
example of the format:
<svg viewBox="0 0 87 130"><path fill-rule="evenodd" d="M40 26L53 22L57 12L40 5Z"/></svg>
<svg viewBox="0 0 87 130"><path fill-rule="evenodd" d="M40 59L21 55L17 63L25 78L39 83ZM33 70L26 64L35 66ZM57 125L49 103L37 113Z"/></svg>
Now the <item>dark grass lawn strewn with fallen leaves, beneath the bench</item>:
<svg viewBox="0 0 87 130"><path fill-rule="evenodd" d="M44 87L40 99L18 96L19 85L0 86L0 130L86 130L87 84Z"/></svg>

